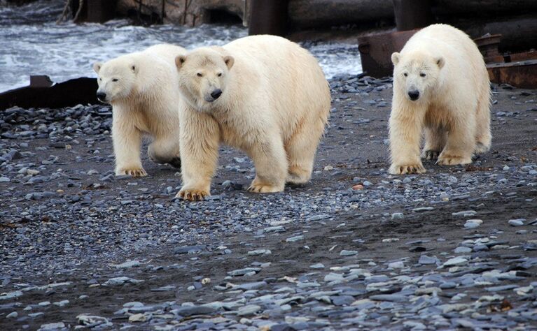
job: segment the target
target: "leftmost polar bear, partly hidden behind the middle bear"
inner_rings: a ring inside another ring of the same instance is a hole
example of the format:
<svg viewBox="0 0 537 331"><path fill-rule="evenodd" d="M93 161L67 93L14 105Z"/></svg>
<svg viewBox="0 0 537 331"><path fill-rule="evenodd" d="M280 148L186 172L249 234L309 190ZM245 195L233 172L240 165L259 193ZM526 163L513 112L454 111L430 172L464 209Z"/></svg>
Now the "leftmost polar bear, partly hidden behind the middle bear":
<svg viewBox="0 0 537 331"><path fill-rule="evenodd" d="M151 160L181 166L175 57L184 52L175 45L154 45L93 65L99 76L97 98L112 105L116 175L147 175L140 158L144 135L153 140Z"/></svg>

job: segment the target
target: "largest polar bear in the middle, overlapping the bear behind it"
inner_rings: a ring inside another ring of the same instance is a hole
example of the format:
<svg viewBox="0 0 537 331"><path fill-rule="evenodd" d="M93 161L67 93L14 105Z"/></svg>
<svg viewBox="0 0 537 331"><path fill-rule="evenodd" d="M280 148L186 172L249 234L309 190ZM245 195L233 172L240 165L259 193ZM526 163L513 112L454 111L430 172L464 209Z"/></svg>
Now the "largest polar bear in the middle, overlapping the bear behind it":
<svg viewBox="0 0 537 331"><path fill-rule="evenodd" d="M210 194L218 145L242 149L256 167L249 191L305 183L330 112L316 59L277 36L249 36L176 58L183 186L177 197Z"/></svg>

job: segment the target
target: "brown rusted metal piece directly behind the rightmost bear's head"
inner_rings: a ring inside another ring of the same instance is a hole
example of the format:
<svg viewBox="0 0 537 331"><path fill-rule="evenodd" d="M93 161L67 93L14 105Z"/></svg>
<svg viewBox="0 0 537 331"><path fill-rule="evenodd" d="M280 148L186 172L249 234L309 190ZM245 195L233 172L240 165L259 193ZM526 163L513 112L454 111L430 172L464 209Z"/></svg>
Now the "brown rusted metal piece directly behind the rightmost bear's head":
<svg viewBox="0 0 537 331"><path fill-rule="evenodd" d="M418 29L358 37L363 72L381 78L391 75L391 53L399 52Z"/></svg>

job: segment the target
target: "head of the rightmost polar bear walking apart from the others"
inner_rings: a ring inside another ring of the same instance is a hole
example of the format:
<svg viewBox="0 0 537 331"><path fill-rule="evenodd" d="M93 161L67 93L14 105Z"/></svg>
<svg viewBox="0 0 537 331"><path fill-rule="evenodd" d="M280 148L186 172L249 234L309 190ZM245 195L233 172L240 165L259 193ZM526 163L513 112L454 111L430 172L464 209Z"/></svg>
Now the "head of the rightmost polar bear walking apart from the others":
<svg viewBox="0 0 537 331"><path fill-rule="evenodd" d="M434 57L422 52L391 54L393 62L393 81L403 90L410 101L418 101L427 97L435 89L440 78L445 59Z"/></svg>

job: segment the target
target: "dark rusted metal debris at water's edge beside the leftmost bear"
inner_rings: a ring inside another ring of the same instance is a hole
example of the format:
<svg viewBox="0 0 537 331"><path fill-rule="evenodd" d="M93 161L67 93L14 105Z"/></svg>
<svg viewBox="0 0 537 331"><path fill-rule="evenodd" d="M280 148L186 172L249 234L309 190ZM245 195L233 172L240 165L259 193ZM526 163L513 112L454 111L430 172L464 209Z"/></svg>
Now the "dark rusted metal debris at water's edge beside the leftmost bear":
<svg viewBox="0 0 537 331"><path fill-rule="evenodd" d="M27 87L0 93L0 110L21 108L63 108L78 104L95 104L95 78L76 78L54 84L48 76L30 76Z"/></svg>

